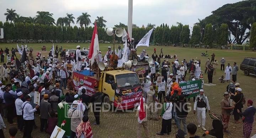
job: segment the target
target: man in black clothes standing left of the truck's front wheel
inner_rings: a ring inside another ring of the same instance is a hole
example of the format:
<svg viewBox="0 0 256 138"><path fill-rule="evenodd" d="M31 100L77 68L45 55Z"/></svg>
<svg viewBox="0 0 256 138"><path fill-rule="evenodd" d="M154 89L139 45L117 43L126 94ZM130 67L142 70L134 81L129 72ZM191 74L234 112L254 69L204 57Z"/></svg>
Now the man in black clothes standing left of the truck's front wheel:
<svg viewBox="0 0 256 138"><path fill-rule="evenodd" d="M95 94L92 95L90 101L94 112L96 122L94 125L100 125L100 109L102 102L102 93L98 91L98 86L94 86Z"/></svg>

